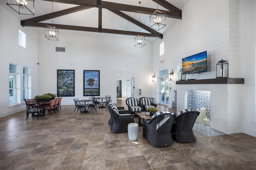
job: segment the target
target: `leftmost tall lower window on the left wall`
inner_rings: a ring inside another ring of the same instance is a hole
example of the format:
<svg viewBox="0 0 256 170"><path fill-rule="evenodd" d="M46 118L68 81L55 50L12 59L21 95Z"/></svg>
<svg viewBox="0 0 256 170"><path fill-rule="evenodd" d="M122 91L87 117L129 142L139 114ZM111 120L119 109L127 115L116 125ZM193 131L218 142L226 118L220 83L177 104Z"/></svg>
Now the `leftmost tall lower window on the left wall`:
<svg viewBox="0 0 256 170"><path fill-rule="evenodd" d="M16 65L9 65L9 104L16 103Z"/></svg>

